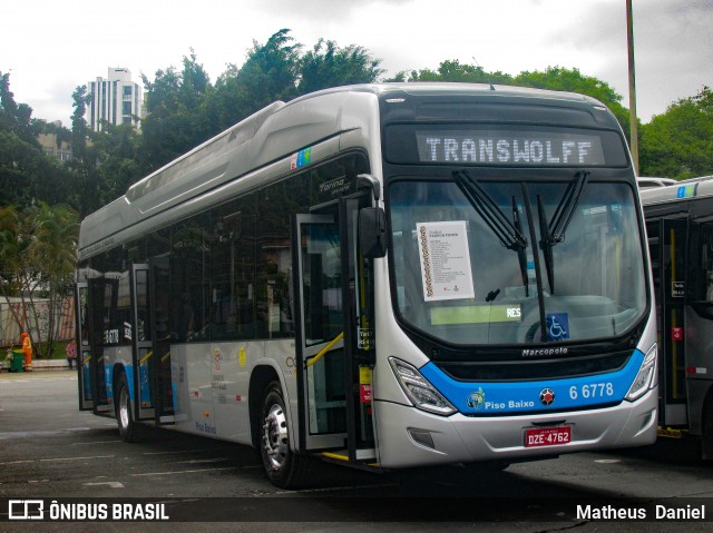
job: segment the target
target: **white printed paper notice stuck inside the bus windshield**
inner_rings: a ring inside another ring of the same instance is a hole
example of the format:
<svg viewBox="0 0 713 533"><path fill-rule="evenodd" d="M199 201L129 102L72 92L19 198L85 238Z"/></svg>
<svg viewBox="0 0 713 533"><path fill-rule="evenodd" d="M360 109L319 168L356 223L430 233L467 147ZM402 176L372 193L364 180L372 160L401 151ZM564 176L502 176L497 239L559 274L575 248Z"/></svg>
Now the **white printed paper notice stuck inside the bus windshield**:
<svg viewBox="0 0 713 533"><path fill-rule="evenodd" d="M465 220L416 225L423 299L472 298L472 270Z"/></svg>

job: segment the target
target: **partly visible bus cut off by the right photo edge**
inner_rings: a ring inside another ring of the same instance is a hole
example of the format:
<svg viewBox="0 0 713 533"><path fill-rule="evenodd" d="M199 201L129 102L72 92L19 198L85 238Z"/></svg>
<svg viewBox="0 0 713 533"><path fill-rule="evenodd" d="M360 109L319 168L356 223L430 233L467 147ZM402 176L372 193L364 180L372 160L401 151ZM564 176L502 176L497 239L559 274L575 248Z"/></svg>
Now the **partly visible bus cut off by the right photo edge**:
<svg viewBox="0 0 713 533"><path fill-rule="evenodd" d="M660 430L713 460L713 176L642 191L661 353Z"/></svg>

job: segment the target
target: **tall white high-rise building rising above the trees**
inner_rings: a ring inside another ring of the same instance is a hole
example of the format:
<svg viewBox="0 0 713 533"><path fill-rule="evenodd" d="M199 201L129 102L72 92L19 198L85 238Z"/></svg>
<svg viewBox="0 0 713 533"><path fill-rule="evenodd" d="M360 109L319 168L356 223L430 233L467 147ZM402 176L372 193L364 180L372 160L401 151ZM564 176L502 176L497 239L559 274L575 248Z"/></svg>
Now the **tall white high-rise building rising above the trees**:
<svg viewBox="0 0 713 533"><path fill-rule="evenodd" d="M107 79L97 78L87 83L91 100L87 107L87 125L101 131L101 120L113 125L131 124L140 127L143 112L141 86L131 81L131 72L125 68L109 67Z"/></svg>

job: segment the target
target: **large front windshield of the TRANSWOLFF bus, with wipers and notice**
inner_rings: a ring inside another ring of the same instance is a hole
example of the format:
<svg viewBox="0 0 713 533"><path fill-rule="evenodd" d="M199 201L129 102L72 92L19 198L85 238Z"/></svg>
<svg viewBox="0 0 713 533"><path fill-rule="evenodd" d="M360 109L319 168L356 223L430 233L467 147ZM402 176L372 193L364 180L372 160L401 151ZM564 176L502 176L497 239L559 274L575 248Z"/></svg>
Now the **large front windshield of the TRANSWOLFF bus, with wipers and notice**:
<svg viewBox="0 0 713 533"><path fill-rule="evenodd" d="M389 188L402 322L458 345L578 342L638 323L646 287L632 187L588 172L468 178Z"/></svg>

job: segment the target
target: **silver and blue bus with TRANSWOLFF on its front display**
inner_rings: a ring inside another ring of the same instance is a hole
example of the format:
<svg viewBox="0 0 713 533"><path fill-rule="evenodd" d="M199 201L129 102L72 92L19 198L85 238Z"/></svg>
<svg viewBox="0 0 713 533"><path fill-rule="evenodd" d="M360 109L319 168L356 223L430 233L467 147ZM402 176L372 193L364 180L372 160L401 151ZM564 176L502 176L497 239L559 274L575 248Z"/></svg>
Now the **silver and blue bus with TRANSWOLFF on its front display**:
<svg viewBox="0 0 713 533"><path fill-rule="evenodd" d="M627 146L600 102L470 83L275 102L89 215L80 408L388 471L652 443Z"/></svg>

